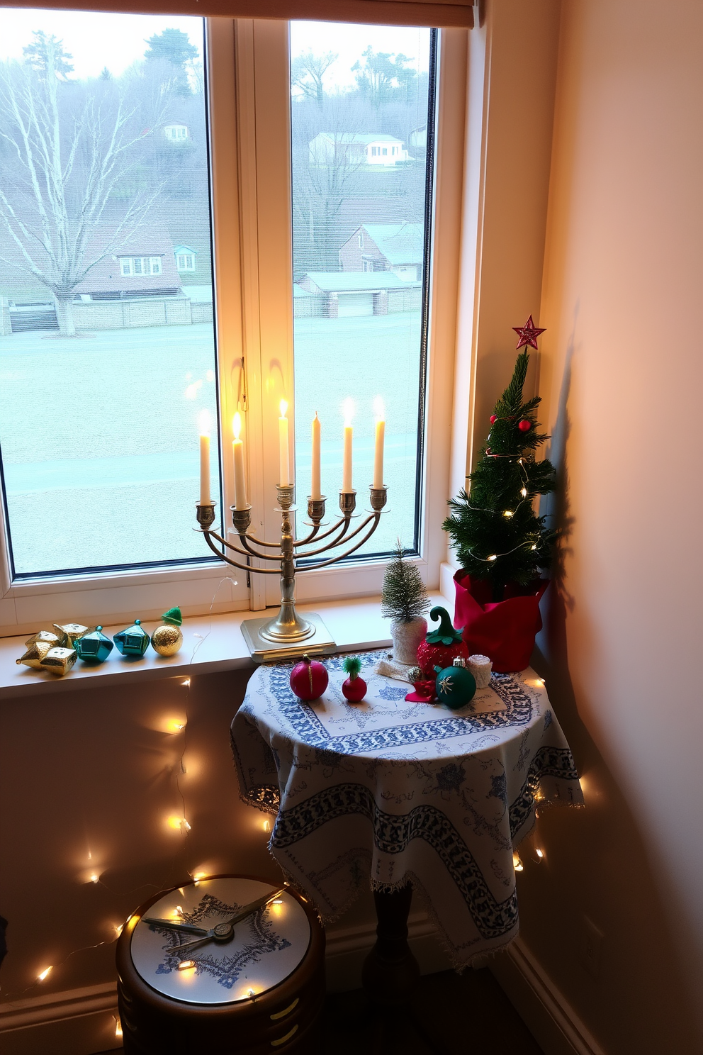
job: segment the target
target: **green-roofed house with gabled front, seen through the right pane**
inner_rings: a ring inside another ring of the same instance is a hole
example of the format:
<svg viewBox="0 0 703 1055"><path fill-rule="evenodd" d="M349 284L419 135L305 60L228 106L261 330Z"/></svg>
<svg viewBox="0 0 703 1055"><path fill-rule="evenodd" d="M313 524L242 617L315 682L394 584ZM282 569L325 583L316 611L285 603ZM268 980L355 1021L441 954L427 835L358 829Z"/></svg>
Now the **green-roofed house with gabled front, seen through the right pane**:
<svg viewBox="0 0 703 1055"><path fill-rule="evenodd" d="M362 224L339 250L343 271L390 271L406 282L423 276L423 224Z"/></svg>

